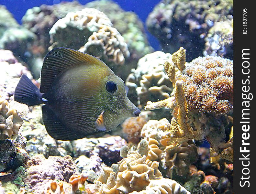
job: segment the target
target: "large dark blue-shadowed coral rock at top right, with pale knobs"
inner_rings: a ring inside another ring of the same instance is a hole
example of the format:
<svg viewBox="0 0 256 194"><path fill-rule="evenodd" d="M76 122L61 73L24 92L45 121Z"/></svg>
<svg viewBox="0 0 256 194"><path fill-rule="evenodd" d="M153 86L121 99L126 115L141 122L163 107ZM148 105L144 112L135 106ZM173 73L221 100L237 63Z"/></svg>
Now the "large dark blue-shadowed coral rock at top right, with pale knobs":
<svg viewBox="0 0 256 194"><path fill-rule="evenodd" d="M147 18L146 25L164 52L190 48L188 61L202 56L204 38L215 22L233 18L233 0L162 0Z"/></svg>

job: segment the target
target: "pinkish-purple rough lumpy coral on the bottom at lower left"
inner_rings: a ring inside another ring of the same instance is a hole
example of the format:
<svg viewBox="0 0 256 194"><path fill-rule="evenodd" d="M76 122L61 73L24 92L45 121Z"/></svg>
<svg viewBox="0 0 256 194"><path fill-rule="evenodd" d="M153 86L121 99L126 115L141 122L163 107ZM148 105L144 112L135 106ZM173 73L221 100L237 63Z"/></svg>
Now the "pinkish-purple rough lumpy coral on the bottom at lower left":
<svg viewBox="0 0 256 194"><path fill-rule="evenodd" d="M28 161L27 177L24 178L24 182L35 193L40 193L52 180L68 182L72 175L77 174L78 169L71 156L49 156L45 159L43 155L37 155Z"/></svg>

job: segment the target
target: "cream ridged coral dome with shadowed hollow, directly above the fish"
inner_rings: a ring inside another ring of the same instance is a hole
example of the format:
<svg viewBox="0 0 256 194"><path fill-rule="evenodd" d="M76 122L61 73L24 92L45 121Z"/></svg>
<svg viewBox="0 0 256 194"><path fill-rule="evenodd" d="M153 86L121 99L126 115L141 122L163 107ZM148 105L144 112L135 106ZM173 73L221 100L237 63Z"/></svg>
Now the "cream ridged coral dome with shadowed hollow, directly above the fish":
<svg viewBox="0 0 256 194"><path fill-rule="evenodd" d="M80 51L116 64L123 64L125 57L129 57L124 38L108 17L94 8L68 13L53 25L49 34L52 47L83 46Z"/></svg>

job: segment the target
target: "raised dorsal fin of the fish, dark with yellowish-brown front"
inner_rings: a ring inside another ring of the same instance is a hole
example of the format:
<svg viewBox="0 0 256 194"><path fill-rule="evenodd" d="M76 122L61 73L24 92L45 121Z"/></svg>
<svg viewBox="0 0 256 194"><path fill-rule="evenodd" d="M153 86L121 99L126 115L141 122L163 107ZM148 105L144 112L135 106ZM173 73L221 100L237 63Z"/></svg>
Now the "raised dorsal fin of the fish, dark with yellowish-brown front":
<svg viewBox="0 0 256 194"><path fill-rule="evenodd" d="M40 92L47 92L62 70L71 66L92 64L106 67L106 64L100 59L87 53L63 47L52 49L44 58L41 70Z"/></svg>

